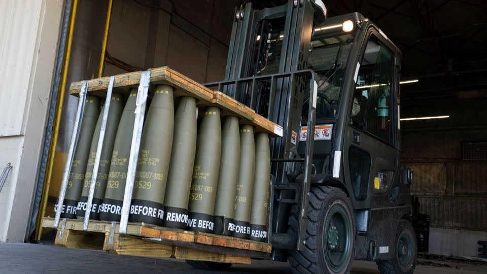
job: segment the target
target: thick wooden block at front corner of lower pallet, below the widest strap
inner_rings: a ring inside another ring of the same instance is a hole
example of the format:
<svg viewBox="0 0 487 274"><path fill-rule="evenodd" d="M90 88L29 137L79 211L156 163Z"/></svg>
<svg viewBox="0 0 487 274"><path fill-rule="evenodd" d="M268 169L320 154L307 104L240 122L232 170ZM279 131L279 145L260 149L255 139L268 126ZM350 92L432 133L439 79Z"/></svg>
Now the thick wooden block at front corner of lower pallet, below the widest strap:
<svg viewBox="0 0 487 274"><path fill-rule="evenodd" d="M103 250L109 253L155 258L170 258L173 253L173 247L170 245L145 241L142 238L114 234L113 244L109 244L108 239L107 233Z"/></svg>

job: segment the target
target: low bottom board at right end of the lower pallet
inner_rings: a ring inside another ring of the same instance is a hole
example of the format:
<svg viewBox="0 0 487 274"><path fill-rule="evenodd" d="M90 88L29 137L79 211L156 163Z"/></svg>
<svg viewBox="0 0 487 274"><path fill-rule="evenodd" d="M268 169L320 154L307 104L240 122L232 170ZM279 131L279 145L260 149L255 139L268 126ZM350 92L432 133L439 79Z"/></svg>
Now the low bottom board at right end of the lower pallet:
<svg viewBox="0 0 487 274"><path fill-rule="evenodd" d="M205 252L200 250L188 249L184 247L175 247L174 257L176 259L222 262L222 263L250 264L252 262L250 257Z"/></svg>

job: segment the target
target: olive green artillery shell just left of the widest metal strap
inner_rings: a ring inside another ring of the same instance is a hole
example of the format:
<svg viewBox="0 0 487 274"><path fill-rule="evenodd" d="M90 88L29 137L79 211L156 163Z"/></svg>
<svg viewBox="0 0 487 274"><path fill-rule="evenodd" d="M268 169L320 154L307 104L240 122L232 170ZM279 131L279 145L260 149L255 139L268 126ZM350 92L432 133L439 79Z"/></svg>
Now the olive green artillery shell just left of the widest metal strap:
<svg viewBox="0 0 487 274"><path fill-rule="evenodd" d="M128 95L127 103L122 112L120 123L113 145L108 184L105 198L100 206L100 219L107 221L120 221L120 211L127 181L128 159L132 143L133 123L135 120L135 100L137 89L133 88Z"/></svg>

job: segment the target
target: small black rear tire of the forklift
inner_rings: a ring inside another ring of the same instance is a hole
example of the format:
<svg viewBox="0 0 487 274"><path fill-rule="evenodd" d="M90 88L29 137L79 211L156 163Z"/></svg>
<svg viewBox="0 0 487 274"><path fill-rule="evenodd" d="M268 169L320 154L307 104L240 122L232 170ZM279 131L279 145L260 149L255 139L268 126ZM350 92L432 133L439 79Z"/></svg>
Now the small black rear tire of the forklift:
<svg viewBox="0 0 487 274"><path fill-rule="evenodd" d="M410 237L412 256L407 266L402 266L399 263L397 256L397 245L399 237L405 233ZM394 259L378 260L377 267L382 274L411 274L416 267L416 258L418 257L418 246L416 245L416 236L411 223L406 220L400 220L396 232L396 244L394 245Z"/></svg>

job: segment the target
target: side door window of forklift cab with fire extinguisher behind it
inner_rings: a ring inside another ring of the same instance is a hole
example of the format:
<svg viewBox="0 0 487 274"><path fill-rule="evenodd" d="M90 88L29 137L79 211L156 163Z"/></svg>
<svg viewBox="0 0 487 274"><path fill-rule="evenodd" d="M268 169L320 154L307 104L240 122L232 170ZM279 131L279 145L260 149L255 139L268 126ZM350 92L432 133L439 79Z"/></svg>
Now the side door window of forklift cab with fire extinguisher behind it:
<svg viewBox="0 0 487 274"><path fill-rule="evenodd" d="M350 123L389 144L393 72L393 52L371 36L360 62Z"/></svg>

